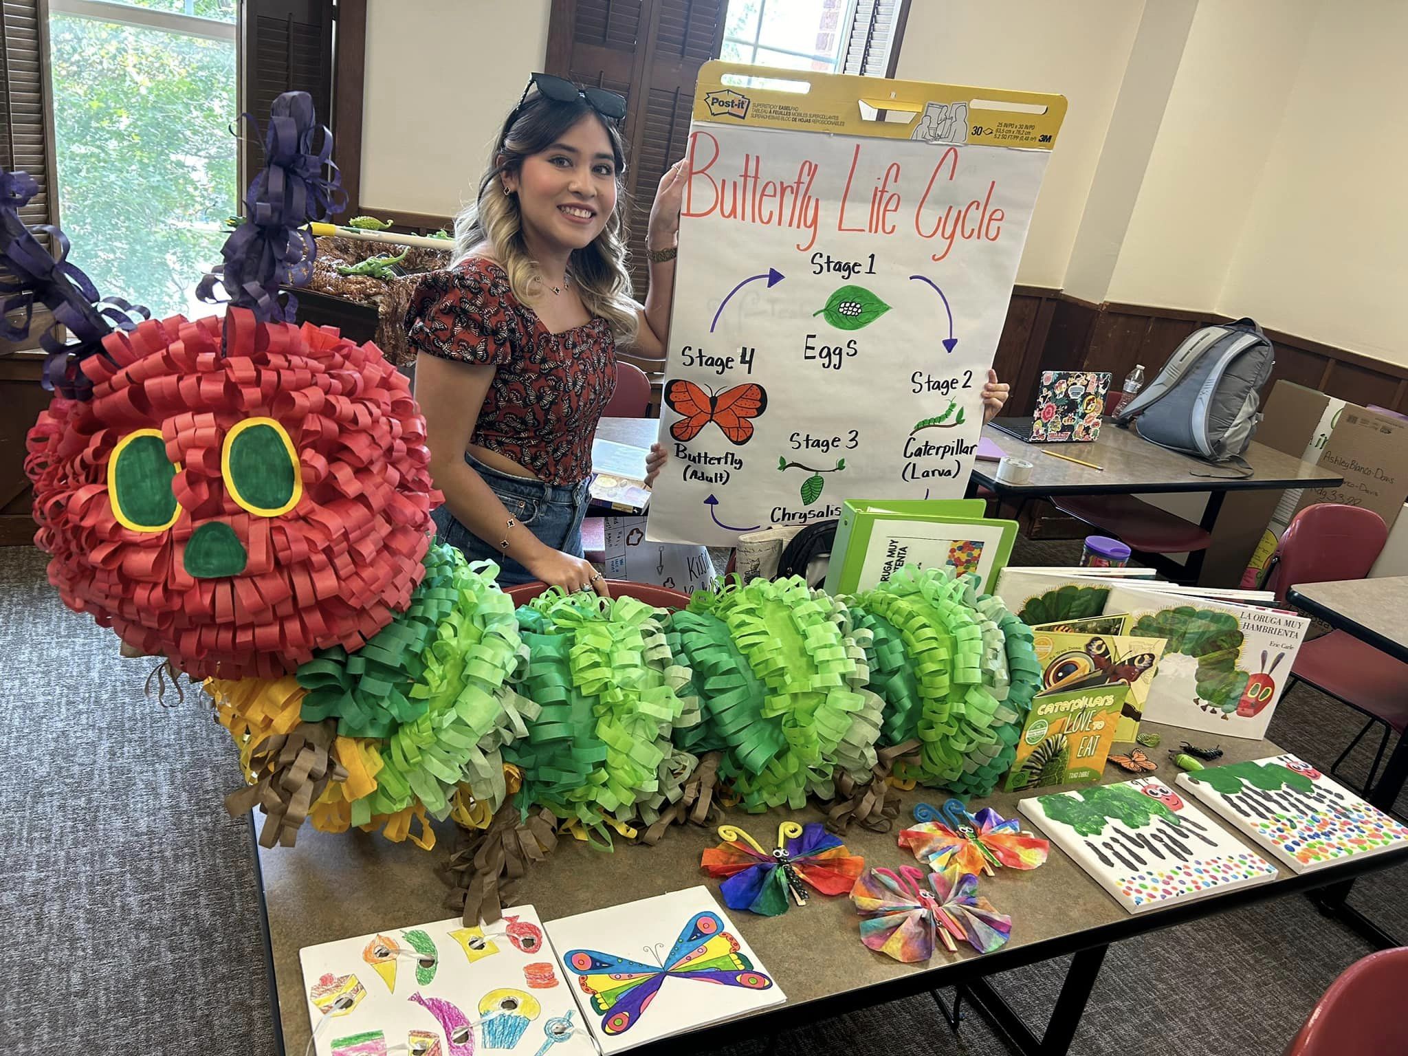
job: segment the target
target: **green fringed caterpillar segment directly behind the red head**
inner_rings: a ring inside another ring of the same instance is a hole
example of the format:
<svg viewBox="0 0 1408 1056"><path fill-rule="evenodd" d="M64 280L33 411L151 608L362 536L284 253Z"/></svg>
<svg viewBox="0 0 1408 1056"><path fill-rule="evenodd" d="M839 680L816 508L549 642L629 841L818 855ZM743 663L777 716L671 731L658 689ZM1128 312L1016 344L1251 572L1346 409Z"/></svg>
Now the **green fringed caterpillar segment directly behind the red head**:
<svg viewBox="0 0 1408 1056"><path fill-rule="evenodd" d="M513 690L527 648L497 574L493 562L432 543L404 612L358 652L328 649L298 669L303 719L337 718L341 736L373 739L380 753L353 825L417 800L444 819L462 783L490 811L503 803L500 748L527 735L536 705Z"/></svg>

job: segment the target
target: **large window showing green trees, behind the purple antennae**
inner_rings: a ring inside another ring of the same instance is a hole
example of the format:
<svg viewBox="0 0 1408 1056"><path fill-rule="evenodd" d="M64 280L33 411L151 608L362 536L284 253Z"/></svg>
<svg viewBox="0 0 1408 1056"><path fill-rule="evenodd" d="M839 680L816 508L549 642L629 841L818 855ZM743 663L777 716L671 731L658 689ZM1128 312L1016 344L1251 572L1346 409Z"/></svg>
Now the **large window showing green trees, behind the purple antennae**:
<svg viewBox="0 0 1408 1056"><path fill-rule="evenodd" d="M49 0L55 168L69 259L155 317L204 315L237 211L238 0ZM241 130L245 135L248 130Z"/></svg>

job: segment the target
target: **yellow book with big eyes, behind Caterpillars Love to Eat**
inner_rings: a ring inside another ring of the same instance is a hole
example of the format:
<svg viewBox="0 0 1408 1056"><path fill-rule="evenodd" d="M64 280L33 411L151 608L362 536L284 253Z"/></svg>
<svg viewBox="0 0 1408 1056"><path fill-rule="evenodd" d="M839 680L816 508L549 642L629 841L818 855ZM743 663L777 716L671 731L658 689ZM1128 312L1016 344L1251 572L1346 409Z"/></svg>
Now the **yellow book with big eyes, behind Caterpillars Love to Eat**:
<svg viewBox="0 0 1408 1056"><path fill-rule="evenodd" d="M1080 624L1118 620L1119 617L1091 617ZM1060 627L1057 624L1056 627ZM1125 634L1093 634L1046 631L1033 628L1032 646L1042 665L1042 686L1048 690L1093 689L1124 683L1129 686L1115 741L1126 743L1139 732L1145 700L1159 670L1166 639L1140 638Z"/></svg>

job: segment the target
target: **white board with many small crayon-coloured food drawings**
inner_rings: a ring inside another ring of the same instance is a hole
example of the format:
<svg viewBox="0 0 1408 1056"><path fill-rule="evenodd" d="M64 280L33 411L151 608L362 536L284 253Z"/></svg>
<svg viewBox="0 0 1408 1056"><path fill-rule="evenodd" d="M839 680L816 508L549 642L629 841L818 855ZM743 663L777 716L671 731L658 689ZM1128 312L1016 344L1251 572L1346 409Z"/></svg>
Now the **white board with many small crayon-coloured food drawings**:
<svg viewBox="0 0 1408 1056"><path fill-rule="evenodd" d="M298 950L320 1056L594 1056L531 905L493 925L458 917Z"/></svg>

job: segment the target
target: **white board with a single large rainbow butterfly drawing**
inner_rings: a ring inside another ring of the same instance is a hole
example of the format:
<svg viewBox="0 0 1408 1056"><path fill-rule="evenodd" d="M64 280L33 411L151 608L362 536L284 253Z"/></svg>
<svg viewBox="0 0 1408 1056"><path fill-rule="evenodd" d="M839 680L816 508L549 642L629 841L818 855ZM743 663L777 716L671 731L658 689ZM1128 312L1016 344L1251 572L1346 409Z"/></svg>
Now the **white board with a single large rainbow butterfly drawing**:
<svg viewBox="0 0 1408 1056"><path fill-rule="evenodd" d="M607 1056L787 1000L707 887L565 917L548 935Z"/></svg>

